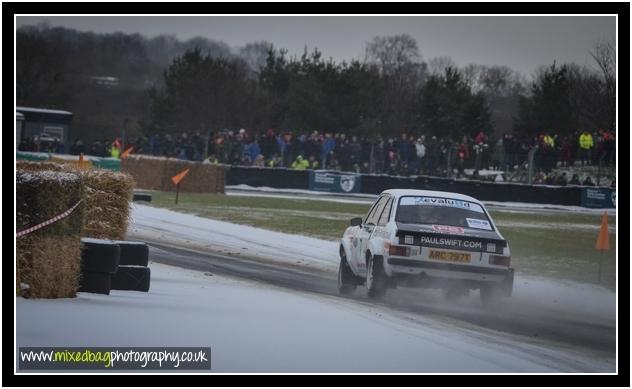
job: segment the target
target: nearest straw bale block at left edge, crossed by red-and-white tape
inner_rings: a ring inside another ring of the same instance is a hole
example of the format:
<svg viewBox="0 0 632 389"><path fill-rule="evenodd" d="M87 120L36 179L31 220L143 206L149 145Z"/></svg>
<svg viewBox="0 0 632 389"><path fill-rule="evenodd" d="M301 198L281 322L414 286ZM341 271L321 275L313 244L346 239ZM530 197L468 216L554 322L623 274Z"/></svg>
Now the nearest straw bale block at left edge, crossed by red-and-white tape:
<svg viewBox="0 0 632 389"><path fill-rule="evenodd" d="M61 171L16 173L18 231L49 220L83 200L79 175ZM25 297L74 297L81 259L85 204L67 217L16 240L17 292Z"/></svg>

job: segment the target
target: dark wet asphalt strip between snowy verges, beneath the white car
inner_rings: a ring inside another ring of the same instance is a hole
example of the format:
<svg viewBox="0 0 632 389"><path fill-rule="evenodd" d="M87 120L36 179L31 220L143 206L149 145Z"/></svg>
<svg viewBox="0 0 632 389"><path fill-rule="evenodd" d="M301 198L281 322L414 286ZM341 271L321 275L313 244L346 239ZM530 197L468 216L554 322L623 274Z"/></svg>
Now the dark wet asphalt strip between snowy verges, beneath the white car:
<svg viewBox="0 0 632 389"><path fill-rule="evenodd" d="M349 298L363 304L388 306L404 313L430 317L475 331L499 331L527 337L534 344L557 343L560 347L578 348L600 356L615 358L616 332L614 322L585 315L560 315L554 309L515 306L510 302L502 308L484 308L478 292L457 303L447 303L439 291L402 288L389 290L381 301L366 297L359 286L349 296L339 296L336 274L283 266L267 262L201 253L187 248L148 242L150 260L223 276L238 277L307 293Z"/></svg>

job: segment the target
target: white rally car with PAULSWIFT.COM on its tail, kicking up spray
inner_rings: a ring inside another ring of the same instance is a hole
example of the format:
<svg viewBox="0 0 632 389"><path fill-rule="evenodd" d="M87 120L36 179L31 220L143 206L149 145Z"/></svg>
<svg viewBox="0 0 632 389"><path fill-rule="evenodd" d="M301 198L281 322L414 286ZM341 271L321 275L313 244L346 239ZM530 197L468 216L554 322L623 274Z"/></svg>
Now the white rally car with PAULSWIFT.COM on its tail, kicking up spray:
<svg viewBox="0 0 632 389"><path fill-rule="evenodd" d="M441 288L456 298L480 289L484 303L511 296L509 245L478 200L450 192L391 189L340 241L338 289L365 284L370 297L398 285Z"/></svg>

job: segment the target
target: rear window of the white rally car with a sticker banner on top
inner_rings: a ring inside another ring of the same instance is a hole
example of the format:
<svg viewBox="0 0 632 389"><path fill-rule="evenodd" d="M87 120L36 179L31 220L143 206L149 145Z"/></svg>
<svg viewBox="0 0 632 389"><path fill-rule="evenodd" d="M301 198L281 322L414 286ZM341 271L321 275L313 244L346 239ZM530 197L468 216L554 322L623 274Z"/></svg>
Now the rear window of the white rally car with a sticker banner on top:
<svg viewBox="0 0 632 389"><path fill-rule="evenodd" d="M446 197L402 196L395 221L493 230L487 213L479 204Z"/></svg>

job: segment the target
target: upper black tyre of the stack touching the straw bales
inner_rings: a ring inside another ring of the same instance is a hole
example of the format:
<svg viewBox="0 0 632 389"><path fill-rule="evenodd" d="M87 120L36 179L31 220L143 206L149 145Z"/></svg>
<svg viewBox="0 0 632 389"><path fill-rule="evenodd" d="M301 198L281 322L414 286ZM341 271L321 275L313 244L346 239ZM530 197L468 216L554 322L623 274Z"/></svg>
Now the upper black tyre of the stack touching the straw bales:
<svg viewBox="0 0 632 389"><path fill-rule="evenodd" d="M121 249L111 240L81 239L81 270L87 273L114 273L120 263Z"/></svg>

